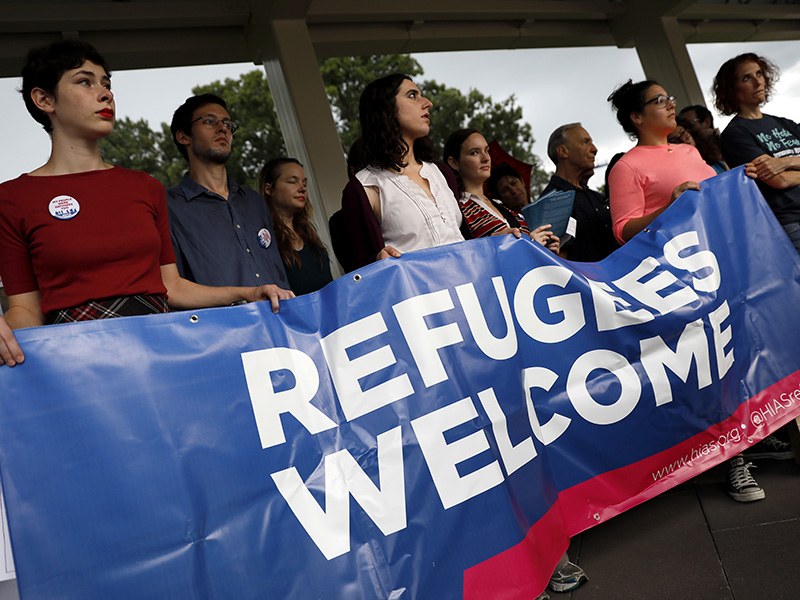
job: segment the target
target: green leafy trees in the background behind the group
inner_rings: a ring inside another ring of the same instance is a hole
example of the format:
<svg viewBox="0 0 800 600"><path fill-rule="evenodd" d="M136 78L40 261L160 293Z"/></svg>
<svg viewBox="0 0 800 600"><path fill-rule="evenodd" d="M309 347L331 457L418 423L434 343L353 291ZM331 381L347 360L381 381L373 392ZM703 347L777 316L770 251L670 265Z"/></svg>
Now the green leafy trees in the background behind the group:
<svg viewBox="0 0 800 600"><path fill-rule="evenodd" d="M360 135L358 101L367 83L390 73L405 73L416 79L423 75L419 62L407 54L327 58L319 65L345 152ZM423 81L420 87L434 104L431 139L439 150L451 132L474 127L483 132L488 141L496 138L510 154L533 164L531 187L534 191L544 187L548 175L533 154L531 126L522 120L522 109L513 95L494 102L476 89L464 94L435 81ZM233 119L241 125L227 163L228 172L236 181L256 187L258 172L264 163L286 153L263 71L254 70L238 79L197 86L192 92L217 94L228 104ZM100 144L106 160L146 171L165 186L177 183L187 169L166 123L161 124L160 131L153 131L144 120L121 119L114 133Z"/></svg>

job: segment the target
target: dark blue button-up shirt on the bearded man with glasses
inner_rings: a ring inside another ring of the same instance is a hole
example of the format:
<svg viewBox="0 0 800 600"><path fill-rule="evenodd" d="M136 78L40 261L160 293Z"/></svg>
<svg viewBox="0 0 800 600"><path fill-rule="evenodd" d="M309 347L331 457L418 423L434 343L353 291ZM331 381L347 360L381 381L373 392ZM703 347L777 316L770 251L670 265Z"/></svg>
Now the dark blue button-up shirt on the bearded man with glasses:
<svg viewBox="0 0 800 600"><path fill-rule="evenodd" d="M264 199L228 177L228 198L189 174L167 189L169 226L181 277L203 285L289 289Z"/></svg>

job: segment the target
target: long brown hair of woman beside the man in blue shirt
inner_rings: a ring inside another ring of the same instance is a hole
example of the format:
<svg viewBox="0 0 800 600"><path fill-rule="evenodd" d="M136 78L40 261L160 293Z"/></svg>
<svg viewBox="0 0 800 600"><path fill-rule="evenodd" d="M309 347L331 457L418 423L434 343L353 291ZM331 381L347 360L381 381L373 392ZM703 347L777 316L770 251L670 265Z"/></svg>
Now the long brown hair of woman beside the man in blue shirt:
<svg viewBox="0 0 800 600"><path fill-rule="evenodd" d="M278 178L283 172L284 165L288 164L300 165L301 167L303 166L303 164L296 158L273 158L267 164L265 164L261 169L261 172L258 174L258 191L261 192L261 195L267 202L267 208L269 209L269 214L272 217L272 227L275 231L275 241L278 243L278 251L281 253L281 258L283 259L284 264L287 267L290 267L296 263L297 267L301 268L303 266L303 261L300 260L300 256L297 254L297 250L294 249L294 245L292 244L294 234L286 226L286 224L283 222L283 219L277 213L275 203L272 201L272 197L266 193L267 184L271 186L275 185L275 182L278 181ZM294 218L292 219L292 226L304 243L311 244L320 250L325 250L325 244L323 244L322 240L319 239L319 234L311 222L311 217L313 214L314 211L311 208L311 204L306 202L303 210L295 213ZM322 255L322 252L317 252L320 265L323 261Z"/></svg>

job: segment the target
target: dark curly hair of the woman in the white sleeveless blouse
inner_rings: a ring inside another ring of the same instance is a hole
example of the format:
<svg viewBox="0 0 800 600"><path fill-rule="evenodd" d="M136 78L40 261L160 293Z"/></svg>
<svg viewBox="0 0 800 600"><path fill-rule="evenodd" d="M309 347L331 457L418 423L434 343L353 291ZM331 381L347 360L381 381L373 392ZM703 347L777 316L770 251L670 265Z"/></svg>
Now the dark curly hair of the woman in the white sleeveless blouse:
<svg viewBox="0 0 800 600"><path fill-rule="evenodd" d="M397 120L397 92L403 81L411 77L402 73L376 79L361 93L358 116L361 121L361 136L369 164L387 171L401 171L407 166L405 157L409 148L400 131ZM414 156L417 160L433 162L439 153L428 136L414 140Z"/></svg>

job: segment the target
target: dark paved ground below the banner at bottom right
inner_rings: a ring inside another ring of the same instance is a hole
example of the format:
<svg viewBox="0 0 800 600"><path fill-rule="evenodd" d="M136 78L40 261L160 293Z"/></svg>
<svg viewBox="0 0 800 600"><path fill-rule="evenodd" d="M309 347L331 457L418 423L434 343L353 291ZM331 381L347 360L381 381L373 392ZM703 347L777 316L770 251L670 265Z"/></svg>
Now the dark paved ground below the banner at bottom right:
<svg viewBox="0 0 800 600"><path fill-rule="evenodd" d="M759 460L741 504L726 465L573 538L589 582L553 600L800 600L800 466Z"/></svg>

